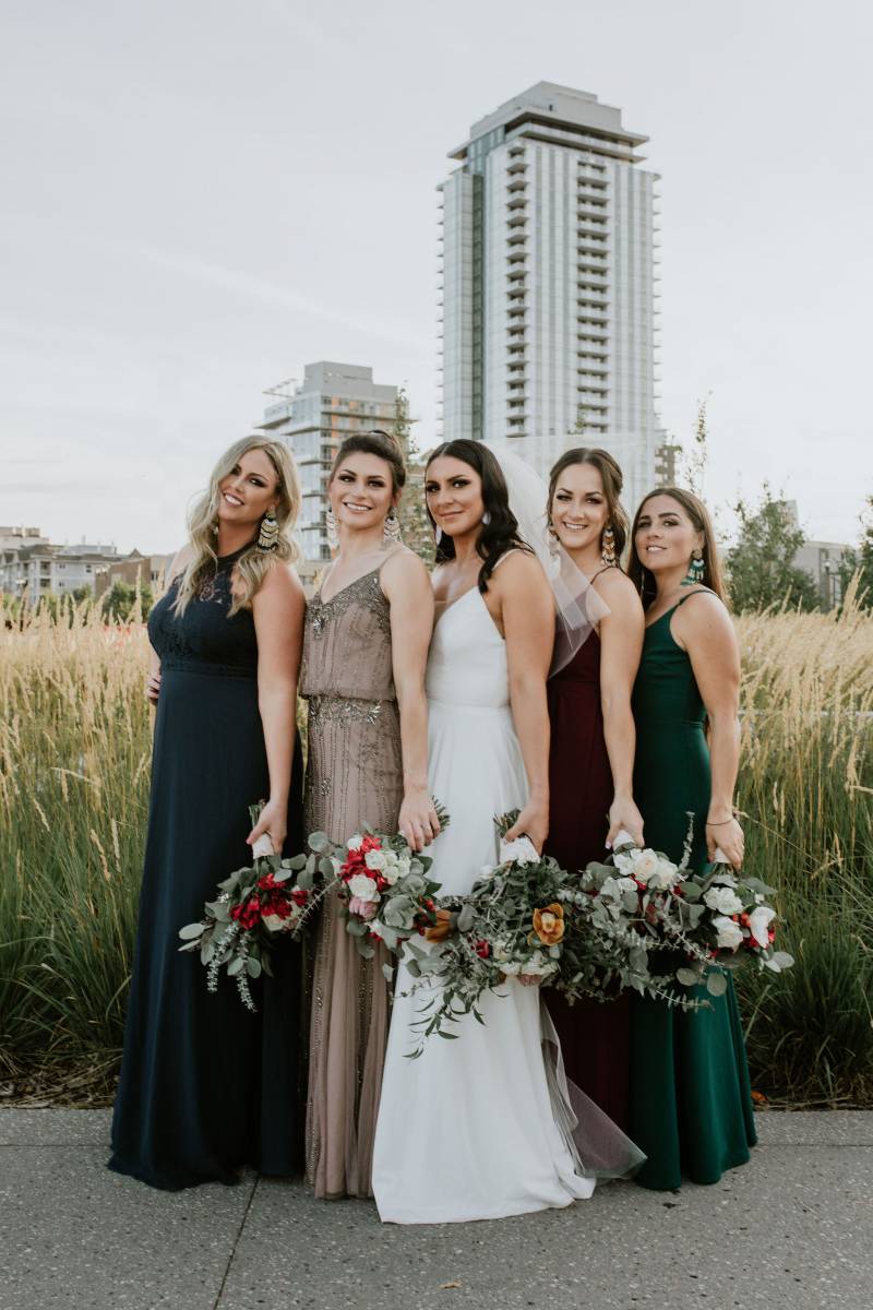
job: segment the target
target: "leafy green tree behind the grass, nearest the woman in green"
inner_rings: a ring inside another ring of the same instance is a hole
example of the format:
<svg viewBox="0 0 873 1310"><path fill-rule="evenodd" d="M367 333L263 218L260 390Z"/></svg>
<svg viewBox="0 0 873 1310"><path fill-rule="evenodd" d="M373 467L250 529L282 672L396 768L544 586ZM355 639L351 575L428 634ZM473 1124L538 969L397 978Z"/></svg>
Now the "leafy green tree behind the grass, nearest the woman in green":
<svg viewBox="0 0 873 1310"><path fill-rule="evenodd" d="M794 565L805 537L783 499L774 496L764 482L760 500L734 506L739 536L725 555L730 599L738 613L788 605L792 609L818 609L814 579Z"/></svg>

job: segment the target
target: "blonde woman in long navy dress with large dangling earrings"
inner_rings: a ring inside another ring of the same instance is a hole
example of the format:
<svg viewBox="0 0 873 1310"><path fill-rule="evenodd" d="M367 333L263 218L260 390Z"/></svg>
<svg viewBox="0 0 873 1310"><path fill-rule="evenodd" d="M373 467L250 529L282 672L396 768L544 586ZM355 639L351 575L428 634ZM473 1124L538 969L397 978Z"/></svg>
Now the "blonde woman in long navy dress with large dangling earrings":
<svg viewBox="0 0 873 1310"><path fill-rule="evenodd" d="M302 849L298 506L285 447L230 447L149 616L152 796L110 1169L170 1191L302 1166L300 952L275 954L253 1014L232 979L209 993L199 959L178 950L216 884L250 863L246 842L268 833L275 850Z"/></svg>

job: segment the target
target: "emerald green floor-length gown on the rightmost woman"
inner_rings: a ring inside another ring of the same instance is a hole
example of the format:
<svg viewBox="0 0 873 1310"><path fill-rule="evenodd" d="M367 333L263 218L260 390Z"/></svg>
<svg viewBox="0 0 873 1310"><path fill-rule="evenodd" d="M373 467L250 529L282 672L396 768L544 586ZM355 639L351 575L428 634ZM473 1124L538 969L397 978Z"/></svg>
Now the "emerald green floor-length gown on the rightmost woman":
<svg viewBox="0 0 873 1310"><path fill-rule="evenodd" d="M679 861L694 814L691 869L707 863L709 751L704 707L688 655L670 634L673 614L645 631L633 686L636 764L633 798L645 824L645 845ZM679 963L677 960L677 963ZM698 989L704 996L704 989ZM630 1136L648 1159L636 1174L643 1187L670 1189L683 1178L716 1183L745 1165L755 1144L746 1051L733 979L708 997L712 1009L678 1010L632 997Z"/></svg>

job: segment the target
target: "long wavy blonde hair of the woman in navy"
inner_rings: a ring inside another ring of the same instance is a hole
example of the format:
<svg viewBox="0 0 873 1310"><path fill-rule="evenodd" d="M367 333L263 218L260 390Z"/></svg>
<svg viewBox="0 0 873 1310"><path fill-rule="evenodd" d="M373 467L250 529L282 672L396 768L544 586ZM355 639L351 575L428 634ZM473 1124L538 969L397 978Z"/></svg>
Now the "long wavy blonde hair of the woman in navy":
<svg viewBox="0 0 873 1310"><path fill-rule="evenodd" d="M279 485L276 487L276 523L279 534L274 550L262 550L258 546L258 537L243 550L236 563L236 586L228 610L228 617L241 609L251 608L251 597L274 565L275 559L284 559L293 563L300 549L292 537L297 515L300 514L300 478L297 465L291 451L281 441L271 441L263 436L243 436L241 441L234 441L229 447L209 478L209 487L194 503L188 515L188 546L191 558L187 562L182 576L175 601L174 614L183 614L196 593L198 588L209 578L215 576L219 557L215 552L215 529L219 521L219 487L249 451L263 451L274 466Z"/></svg>

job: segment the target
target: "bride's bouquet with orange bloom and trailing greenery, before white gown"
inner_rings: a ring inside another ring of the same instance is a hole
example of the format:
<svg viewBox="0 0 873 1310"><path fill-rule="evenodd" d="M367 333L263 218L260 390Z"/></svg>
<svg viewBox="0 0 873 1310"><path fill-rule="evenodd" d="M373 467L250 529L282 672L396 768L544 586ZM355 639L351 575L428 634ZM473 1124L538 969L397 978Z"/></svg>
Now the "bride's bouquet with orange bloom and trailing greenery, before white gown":
<svg viewBox="0 0 873 1310"><path fill-rule="evenodd" d="M423 1018L412 1024L420 1041L411 1058L421 1055L424 1039L432 1034L457 1038L448 1026L465 1014L484 1023L478 1007L484 992L496 990L510 977L542 982L561 968L568 875L550 855L538 855L527 837L503 841L517 817L516 810L495 819L500 863L483 870L469 896L437 909L437 924L425 935L440 948L407 946L412 992L440 985L421 1006Z"/></svg>

